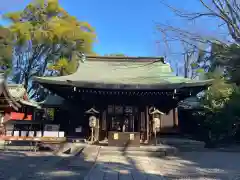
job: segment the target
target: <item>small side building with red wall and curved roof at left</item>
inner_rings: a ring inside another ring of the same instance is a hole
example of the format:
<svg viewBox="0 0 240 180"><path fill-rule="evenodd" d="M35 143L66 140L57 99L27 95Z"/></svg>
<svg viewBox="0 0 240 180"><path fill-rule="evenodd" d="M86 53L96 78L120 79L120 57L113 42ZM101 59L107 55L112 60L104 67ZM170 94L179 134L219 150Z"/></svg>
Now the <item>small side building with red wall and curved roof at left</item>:
<svg viewBox="0 0 240 180"><path fill-rule="evenodd" d="M27 98L23 85L7 84L4 75L0 74L1 135L13 136L14 131L26 131L34 126L35 110L38 108L40 106L37 103Z"/></svg>

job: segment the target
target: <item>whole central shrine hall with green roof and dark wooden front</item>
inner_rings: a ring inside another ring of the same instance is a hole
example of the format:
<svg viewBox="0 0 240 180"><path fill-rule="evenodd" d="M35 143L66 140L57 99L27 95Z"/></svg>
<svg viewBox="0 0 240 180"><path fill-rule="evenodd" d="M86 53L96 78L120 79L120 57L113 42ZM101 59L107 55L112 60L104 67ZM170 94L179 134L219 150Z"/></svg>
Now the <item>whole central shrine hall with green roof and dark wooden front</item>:
<svg viewBox="0 0 240 180"><path fill-rule="evenodd" d="M55 121L67 136L116 146L174 131L178 102L211 85L175 76L159 57L87 56L71 75L34 81L63 99Z"/></svg>

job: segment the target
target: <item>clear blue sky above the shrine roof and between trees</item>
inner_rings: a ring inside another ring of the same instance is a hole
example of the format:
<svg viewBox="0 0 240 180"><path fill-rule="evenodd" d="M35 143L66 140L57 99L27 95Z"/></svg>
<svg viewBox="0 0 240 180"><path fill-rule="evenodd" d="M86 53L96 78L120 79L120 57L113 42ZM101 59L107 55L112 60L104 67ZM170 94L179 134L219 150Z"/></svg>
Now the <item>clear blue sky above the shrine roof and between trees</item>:
<svg viewBox="0 0 240 180"><path fill-rule="evenodd" d="M167 1L180 9L204 10L198 0ZM30 0L6 0L1 2L0 10L4 13L20 10L29 2ZM161 39L156 33L154 21L186 27L186 22L179 21L160 3L160 0L59 0L59 2L71 15L80 21L89 22L95 28L98 42L94 49L100 55L123 53L128 56L160 56L163 55L164 46L161 43L157 48L156 42ZM203 19L194 28L214 32L216 31L214 27L216 27L214 21ZM180 49L177 46L171 48L173 51Z"/></svg>

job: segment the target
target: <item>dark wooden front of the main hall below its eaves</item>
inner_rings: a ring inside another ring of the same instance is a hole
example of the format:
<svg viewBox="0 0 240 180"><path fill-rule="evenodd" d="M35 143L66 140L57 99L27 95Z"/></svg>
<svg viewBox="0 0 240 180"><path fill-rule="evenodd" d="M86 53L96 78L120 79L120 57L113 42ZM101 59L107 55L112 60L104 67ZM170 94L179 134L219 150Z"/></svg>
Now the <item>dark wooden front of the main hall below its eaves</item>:
<svg viewBox="0 0 240 180"><path fill-rule="evenodd" d="M118 101L115 99L115 102ZM54 117L54 123L60 125L60 130L65 131L68 139L90 141L89 119L92 116L96 117L96 126L93 127L94 142L107 142L110 146L140 146L140 143L148 144L154 139L151 114L153 106L110 102L91 105L89 101L88 103L81 101L75 105L70 104L69 108L66 106L55 108ZM157 136L161 133L177 131L176 109L166 112L159 118Z"/></svg>

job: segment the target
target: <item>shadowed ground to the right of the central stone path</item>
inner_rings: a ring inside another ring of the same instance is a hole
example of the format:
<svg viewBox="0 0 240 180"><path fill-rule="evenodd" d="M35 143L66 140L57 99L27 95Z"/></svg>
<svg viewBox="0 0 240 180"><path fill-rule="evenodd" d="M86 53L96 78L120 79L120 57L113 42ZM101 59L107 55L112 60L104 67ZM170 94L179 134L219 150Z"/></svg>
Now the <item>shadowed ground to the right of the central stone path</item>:
<svg viewBox="0 0 240 180"><path fill-rule="evenodd" d="M232 152L182 152L152 159L166 179L240 179L240 154Z"/></svg>

